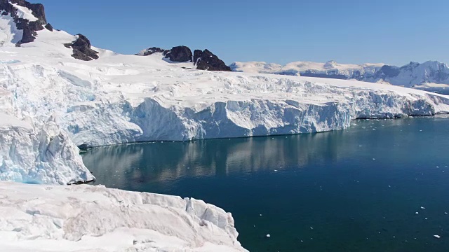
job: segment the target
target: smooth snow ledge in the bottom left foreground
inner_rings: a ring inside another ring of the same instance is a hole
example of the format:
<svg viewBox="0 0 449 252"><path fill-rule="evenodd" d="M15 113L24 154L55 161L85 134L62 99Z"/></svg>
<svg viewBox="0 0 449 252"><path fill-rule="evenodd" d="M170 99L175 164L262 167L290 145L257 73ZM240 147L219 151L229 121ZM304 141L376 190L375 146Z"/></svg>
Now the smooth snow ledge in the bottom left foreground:
<svg viewBox="0 0 449 252"><path fill-rule="evenodd" d="M0 182L0 251L246 251L223 209L104 186Z"/></svg>

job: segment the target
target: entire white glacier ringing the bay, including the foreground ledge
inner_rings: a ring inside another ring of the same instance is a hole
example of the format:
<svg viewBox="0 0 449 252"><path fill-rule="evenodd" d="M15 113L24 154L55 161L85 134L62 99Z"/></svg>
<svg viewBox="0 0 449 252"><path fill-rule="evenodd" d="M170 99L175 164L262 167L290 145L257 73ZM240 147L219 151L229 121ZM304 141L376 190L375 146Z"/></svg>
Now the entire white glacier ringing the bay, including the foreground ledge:
<svg viewBox="0 0 449 252"><path fill-rule="evenodd" d="M34 23L31 42L17 44L24 30L12 15L0 17L1 251L246 251L232 215L201 200L66 186L95 179L79 148L325 132L357 118L449 113L441 94L201 71L160 52L139 57L93 47L99 59L83 62L72 57L80 36L49 29L43 6L38 18L20 6L26 1L13 2L15 18Z"/></svg>

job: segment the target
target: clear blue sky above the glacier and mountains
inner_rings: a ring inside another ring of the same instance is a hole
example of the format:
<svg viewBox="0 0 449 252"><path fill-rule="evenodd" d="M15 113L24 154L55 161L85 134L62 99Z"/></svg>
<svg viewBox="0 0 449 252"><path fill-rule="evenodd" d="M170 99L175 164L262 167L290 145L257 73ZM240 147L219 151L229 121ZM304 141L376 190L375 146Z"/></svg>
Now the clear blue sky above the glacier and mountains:
<svg viewBox="0 0 449 252"><path fill-rule="evenodd" d="M126 54L187 45L227 64L449 62L447 0L29 1L56 29Z"/></svg>

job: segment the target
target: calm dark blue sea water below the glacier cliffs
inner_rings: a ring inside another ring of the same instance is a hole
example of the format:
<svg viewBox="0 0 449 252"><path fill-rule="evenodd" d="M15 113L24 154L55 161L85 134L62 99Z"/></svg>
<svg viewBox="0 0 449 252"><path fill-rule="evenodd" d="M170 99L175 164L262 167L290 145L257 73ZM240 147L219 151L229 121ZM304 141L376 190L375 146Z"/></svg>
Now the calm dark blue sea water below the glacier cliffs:
<svg viewBox="0 0 449 252"><path fill-rule="evenodd" d="M231 211L250 251L449 251L449 118L112 146L83 160L98 184Z"/></svg>

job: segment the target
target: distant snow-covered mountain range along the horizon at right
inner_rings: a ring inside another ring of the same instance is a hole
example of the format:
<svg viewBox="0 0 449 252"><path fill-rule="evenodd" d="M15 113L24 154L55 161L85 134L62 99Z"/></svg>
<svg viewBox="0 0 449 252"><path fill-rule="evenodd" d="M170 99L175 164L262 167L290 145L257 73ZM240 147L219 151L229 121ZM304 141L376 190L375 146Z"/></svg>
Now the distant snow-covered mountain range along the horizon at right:
<svg viewBox="0 0 449 252"><path fill-rule="evenodd" d="M448 64L431 61L422 64L410 62L401 67L386 64L338 64L335 61L326 63L292 62L285 66L265 62L234 62L231 68L233 71L250 73L354 79L406 87L425 86L428 85L427 83L449 84Z"/></svg>

